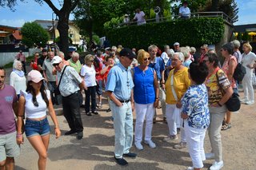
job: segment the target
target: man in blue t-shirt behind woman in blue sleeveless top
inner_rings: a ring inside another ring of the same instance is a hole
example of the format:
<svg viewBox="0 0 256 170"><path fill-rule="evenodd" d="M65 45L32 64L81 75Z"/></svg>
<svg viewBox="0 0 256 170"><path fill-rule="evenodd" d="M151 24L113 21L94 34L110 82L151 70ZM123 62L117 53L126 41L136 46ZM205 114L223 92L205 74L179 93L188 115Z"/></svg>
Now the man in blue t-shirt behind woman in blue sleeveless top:
<svg viewBox="0 0 256 170"><path fill-rule="evenodd" d="M150 64L149 67L153 68L158 75L158 86L159 89L159 101L162 105L162 116L163 121L166 121L166 93L165 93L165 63L162 60L162 57L157 57L158 47L156 45L150 45L148 48L150 53ZM156 121L156 112L154 116L154 123Z"/></svg>

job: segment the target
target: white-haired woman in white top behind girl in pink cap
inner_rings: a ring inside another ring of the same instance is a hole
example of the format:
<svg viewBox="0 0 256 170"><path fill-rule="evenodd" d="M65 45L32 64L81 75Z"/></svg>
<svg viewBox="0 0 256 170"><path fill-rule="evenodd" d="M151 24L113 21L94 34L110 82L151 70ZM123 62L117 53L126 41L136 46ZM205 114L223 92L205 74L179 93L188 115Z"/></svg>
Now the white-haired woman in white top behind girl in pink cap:
<svg viewBox="0 0 256 170"><path fill-rule="evenodd" d="M20 96L21 90L26 90L26 77L22 71L22 62L14 61L13 71L10 73L10 85L16 90L17 97Z"/></svg>

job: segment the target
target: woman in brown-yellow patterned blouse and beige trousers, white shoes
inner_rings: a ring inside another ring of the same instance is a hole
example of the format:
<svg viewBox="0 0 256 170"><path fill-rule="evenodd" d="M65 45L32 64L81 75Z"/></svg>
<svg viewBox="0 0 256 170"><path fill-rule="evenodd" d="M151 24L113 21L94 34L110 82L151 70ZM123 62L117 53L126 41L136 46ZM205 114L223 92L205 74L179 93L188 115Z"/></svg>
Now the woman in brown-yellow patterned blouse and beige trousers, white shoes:
<svg viewBox="0 0 256 170"><path fill-rule="evenodd" d="M221 169L224 164L222 160L222 121L226 114L226 101L233 93L230 81L226 74L218 67L218 56L216 53L206 53L203 59L209 73L206 77L206 88L208 90L208 104L210 111L210 125L208 134L210 138L211 152L206 153L206 160L214 159L210 170ZM224 93L222 93L224 91Z"/></svg>

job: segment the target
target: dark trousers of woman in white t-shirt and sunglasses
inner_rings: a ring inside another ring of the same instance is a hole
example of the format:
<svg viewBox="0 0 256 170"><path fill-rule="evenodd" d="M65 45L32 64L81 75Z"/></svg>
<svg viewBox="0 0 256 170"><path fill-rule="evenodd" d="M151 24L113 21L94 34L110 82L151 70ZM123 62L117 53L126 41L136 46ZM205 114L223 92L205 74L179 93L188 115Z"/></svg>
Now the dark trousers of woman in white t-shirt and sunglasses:
<svg viewBox="0 0 256 170"><path fill-rule="evenodd" d="M96 86L87 87L86 93L86 113L90 112L90 99L91 99L91 111L96 110Z"/></svg>

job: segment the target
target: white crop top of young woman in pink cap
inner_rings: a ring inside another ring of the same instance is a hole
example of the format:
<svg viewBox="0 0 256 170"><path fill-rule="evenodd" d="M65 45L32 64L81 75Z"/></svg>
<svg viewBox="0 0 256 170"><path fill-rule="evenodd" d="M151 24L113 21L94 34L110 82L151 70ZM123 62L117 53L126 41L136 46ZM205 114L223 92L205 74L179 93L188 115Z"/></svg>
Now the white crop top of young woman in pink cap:
<svg viewBox="0 0 256 170"><path fill-rule="evenodd" d="M25 97L26 100L25 113L27 118L35 119L46 116L47 105L46 102L42 99L41 93L39 93L36 97L38 101L38 107L34 106L32 101L33 96L31 93L26 93L26 91L22 90L21 95ZM50 91L48 89L46 89L46 96L48 100L50 100Z"/></svg>

